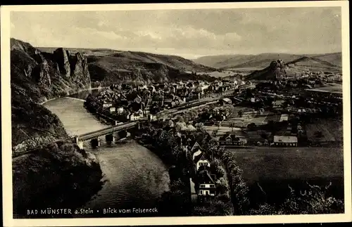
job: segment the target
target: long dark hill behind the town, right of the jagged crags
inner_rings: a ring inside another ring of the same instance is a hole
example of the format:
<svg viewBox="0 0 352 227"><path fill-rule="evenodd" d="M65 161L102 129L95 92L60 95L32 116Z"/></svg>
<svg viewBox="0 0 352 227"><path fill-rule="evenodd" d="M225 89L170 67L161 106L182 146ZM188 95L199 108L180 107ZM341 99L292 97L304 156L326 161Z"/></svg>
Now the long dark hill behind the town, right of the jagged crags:
<svg viewBox="0 0 352 227"><path fill-rule="evenodd" d="M39 49L54 51L54 48ZM87 56L92 81L102 84L122 81L168 82L177 79L212 80L212 77L196 77L187 72L216 71L213 67L194 63L180 56L109 49L68 48L68 51L81 51Z"/></svg>

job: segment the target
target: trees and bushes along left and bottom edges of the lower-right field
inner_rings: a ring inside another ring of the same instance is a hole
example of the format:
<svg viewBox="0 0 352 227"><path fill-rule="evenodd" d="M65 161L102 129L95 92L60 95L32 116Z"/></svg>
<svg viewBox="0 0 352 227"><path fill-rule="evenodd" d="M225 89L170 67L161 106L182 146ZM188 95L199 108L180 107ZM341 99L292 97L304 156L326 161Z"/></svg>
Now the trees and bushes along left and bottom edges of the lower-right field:
<svg viewBox="0 0 352 227"><path fill-rule="evenodd" d="M251 201L249 188L242 177L242 170L235 161L235 154L225 150L221 155L222 162L229 174L234 214L237 215L272 215L272 214L338 214L344 212L344 202L329 195L329 186L320 187L308 184L304 192L294 190L280 205L268 203L256 205Z"/></svg>

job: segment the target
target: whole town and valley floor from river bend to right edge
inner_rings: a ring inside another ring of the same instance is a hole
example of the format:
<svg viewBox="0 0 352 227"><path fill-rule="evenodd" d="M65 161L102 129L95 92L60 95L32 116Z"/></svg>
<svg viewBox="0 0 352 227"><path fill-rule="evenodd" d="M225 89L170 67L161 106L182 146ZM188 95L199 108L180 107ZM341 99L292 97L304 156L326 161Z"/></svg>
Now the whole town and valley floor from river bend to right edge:
<svg viewBox="0 0 352 227"><path fill-rule="evenodd" d="M187 185L182 190L189 190L193 211L220 200L223 212L232 214L235 181L225 174L232 171L225 168L232 150L341 147L341 84L327 78L301 74L251 82L235 75L215 82L112 84L84 105L113 124L146 122L134 136L154 150L178 149L164 161L182 169L175 181ZM169 136L162 148L160 131Z"/></svg>

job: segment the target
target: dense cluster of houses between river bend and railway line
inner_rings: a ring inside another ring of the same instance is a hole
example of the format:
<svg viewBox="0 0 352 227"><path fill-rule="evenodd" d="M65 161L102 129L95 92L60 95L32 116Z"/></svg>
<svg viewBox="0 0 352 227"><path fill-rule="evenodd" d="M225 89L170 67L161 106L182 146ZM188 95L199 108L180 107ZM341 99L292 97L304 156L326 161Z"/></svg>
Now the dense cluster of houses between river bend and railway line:
<svg viewBox="0 0 352 227"><path fill-rule="evenodd" d="M99 102L104 111L124 115L125 120L135 121L146 116L152 117L165 108L196 100L211 93L228 91L238 87L237 80L228 81L187 81L173 83L153 83L132 86L112 84L99 94Z"/></svg>

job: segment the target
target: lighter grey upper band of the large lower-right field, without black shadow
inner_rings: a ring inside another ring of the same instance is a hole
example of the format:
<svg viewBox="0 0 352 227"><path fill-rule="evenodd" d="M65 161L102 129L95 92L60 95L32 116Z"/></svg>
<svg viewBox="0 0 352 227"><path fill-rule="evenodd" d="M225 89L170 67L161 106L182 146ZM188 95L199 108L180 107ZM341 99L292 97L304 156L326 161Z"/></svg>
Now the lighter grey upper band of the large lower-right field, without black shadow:
<svg viewBox="0 0 352 227"><path fill-rule="evenodd" d="M231 149L230 149L231 150ZM342 148L232 149L249 182L343 177Z"/></svg>

